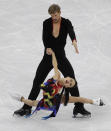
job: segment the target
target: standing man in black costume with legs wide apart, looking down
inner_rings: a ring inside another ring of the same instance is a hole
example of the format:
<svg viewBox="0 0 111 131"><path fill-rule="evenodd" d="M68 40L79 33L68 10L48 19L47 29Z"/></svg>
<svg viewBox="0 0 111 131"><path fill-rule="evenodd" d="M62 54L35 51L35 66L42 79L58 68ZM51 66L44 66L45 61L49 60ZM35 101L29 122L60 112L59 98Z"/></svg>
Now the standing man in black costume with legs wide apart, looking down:
<svg viewBox="0 0 111 131"><path fill-rule="evenodd" d="M37 98L40 92L40 84L44 82L48 73L53 68L49 48L54 51L58 61L58 69L62 72L64 77L69 76L74 78L76 81L74 70L68 61L64 50L67 35L69 34L76 53L79 53L72 23L70 20L61 17L61 9L57 4L51 5L48 9L48 13L51 17L43 22L43 44L45 47L44 56L36 71L33 87L28 97L28 99L31 100L35 100ZM72 96L80 96L77 81L74 88L68 90ZM20 116L29 115L31 113L31 108L31 106L24 104L24 106L15 111L14 114ZM85 110L83 103L75 103L73 115L76 117L78 113L84 116L91 115L89 111Z"/></svg>

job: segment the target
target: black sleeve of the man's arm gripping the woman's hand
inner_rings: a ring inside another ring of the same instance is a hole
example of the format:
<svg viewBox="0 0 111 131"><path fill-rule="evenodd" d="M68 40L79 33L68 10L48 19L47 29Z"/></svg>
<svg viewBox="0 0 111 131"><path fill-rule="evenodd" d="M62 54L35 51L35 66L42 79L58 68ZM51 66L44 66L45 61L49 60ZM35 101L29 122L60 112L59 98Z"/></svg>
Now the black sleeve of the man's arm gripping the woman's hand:
<svg viewBox="0 0 111 131"><path fill-rule="evenodd" d="M42 40L45 48L50 48L48 45L48 32L47 32L47 23L43 22L43 30L42 30Z"/></svg>

